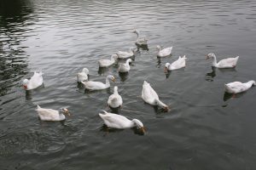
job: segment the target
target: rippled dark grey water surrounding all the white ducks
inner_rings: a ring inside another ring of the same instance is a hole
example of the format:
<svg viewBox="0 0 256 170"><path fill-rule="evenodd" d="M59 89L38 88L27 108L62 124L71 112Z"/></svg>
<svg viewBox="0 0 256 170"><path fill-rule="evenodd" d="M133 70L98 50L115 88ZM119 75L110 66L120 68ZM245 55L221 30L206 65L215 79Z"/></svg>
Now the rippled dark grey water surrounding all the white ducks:
<svg viewBox="0 0 256 170"><path fill-rule="evenodd" d="M148 37L127 75L98 59L134 47L133 28ZM0 3L1 169L256 169L256 89L230 98L224 82L256 79L254 1L3 0ZM156 58L156 45L173 54ZM236 69L212 70L206 54L239 55ZM186 54L187 67L164 73ZM84 93L76 73L108 74L124 100L119 114L140 119L132 129L106 133L98 113L110 89ZM24 78L44 71L44 87L26 94ZM139 97L151 83L172 111ZM36 105L73 113L66 122L40 122Z"/></svg>

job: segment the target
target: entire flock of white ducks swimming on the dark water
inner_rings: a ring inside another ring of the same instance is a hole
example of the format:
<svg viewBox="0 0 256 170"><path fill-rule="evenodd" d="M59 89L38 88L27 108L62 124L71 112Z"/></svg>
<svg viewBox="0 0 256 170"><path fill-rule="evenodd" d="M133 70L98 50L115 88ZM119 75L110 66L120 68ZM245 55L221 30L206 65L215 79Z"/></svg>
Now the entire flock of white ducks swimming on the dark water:
<svg viewBox="0 0 256 170"><path fill-rule="evenodd" d="M148 39L145 37L139 37L139 31L134 30L134 33L137 34L137 46L148 46ZM157 46L158 57L166 57L172 54L172 47L161 49L160 46ZM100 59L98 60L99 67L109 67L113 64L116 64L119 59L126 59L125 63L120 63L118 71L119 72L128 72L131 70L130 63L132 60L130 59L135 55L136 48L130 48L128 52L119 51L116 54L111 56L111 59ZM239 56L235 58L222 59L217 62L215 54L207 54L207 59L212 59L212 66L217 68L235 68L237 60ZM186 66L186 56L179 57L172 64L166 63L165 72L177 70ZM102 90L106 88L110 88L109 80L115 82L115 77L112 75L108 75L106 77L106 83L103 82L93 82L88 81L89 71L84 68L83 71L77 74L77 82L81 82L84 85L84 88L87 90ZM23 87L26 90L32 90L34 88L38 88L43 84L43 73L42 72L34 72L34 75L30 78L30 80L23 80ZM246 91L251 88L253 85L256 85L255 81L248 82L230 82L224 84L224 90L230 94L238 94ZM142 90L142 99L148 103L149 105L157 105L161 107L164 111L168 111L169 108L166 104L160 101L158 94L154 91L154 89L150 86L150 84L146 81L143 82L143 90ZM115 86L113 88L113 94L111 94L108 98L108 106L111 108L119 108L123 105L123 99L118 93L118 87ZM62 121L65 120L65 115L69 115L69 111L67 108L61 108L58 111L52 109L44 109L39 105L36 109L38 111L38 116L42 121ZM103 113L99 113L99 116L102 118L103 122L107 127L113 128L130 128L137 127L140 132L144 133L143 122L132 119L129 120L125 116L121 116L114 113L109 113L107 111L103 111Z"/></svg>

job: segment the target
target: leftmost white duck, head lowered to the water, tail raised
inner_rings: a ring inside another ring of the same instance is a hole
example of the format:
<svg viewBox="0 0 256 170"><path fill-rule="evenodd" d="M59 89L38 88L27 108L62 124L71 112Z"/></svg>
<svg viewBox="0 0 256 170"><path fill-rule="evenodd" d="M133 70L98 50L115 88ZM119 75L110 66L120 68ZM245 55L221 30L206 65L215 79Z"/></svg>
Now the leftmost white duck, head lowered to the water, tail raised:
<svg viewBox="0 0 256 170"><path fill-rule="evenodd" d="M23 87L26 90L31 90L34 88L38 88L39 86L41 86L43 84L43 75L44 73L42 71L40 72L34 72L34 75L30 78L30 80L28 79L24 79L22 82Z"/></svg>

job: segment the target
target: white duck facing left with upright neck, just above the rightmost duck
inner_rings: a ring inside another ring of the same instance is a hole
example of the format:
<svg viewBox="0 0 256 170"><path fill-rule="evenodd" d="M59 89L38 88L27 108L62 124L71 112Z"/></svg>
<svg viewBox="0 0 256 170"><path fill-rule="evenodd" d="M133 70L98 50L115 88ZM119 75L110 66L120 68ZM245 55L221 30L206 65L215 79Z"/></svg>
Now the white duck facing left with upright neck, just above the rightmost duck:
<svg viewBox="0 0 256 170"><path fill-rule="evenodd" d="M237 60L239 59L239 56L237 56L235 58L221 59L217 63L216 55L211 53L211 54L207 54L207 59L213 59L212 66L214 66L214 67L234 68L234 67L236 67L236 63L237 63Z"/></svg>

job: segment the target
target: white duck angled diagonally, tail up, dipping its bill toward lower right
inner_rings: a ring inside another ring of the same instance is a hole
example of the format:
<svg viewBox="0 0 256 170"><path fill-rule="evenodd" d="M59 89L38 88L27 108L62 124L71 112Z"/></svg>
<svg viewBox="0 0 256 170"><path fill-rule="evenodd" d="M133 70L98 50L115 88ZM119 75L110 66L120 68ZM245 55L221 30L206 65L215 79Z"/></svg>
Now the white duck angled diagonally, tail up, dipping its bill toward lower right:
<svg viewBox="0 0 256 170"><path fill-rule="evenodd" d="M151 88L150 84L146 81L143 82L142 98L146 103L150 105L158 105L163 107L165 111L168 111L168 106L160 101L154 89Z"/></svg>

